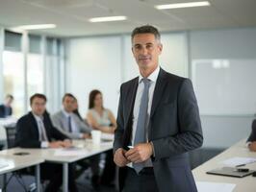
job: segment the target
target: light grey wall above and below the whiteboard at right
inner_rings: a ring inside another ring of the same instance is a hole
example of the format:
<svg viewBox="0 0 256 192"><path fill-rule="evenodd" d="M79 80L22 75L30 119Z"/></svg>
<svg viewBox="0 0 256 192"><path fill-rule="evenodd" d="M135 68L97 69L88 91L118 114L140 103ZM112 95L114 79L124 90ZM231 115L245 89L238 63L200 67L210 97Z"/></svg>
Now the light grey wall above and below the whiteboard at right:
<svg viewBox="0 0 256 192"><path fill-rule="evenodd" d="M193 31L190 33L190 53L191 63L192 60L205 59L255 60L256 29ZM207 71L205 71L205 74L207 74ZM246 74L243 74L241 77L246 78ZM243 85L245 87L247 86L247 88L253 88L250 84ZM256 87L254 88L256 90ZM212 101L209 100L209 103L211 102ZM253 114L202 114L201 121L205 137L204 146L225 148L247 137L250 132L253 118Z"/></svg>

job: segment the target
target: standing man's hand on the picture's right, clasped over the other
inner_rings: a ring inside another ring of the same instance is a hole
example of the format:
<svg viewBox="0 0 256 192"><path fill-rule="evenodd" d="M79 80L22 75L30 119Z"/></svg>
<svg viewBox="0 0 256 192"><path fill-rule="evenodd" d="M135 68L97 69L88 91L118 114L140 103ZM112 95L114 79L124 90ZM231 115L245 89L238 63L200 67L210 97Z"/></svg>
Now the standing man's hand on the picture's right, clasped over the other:
<svg viewBox="0 0 256 192"><path fill-rule="evenodd" d="M126 158L134 163L143 162L153 154L150 143L140 143L125 153Z"/></svg>

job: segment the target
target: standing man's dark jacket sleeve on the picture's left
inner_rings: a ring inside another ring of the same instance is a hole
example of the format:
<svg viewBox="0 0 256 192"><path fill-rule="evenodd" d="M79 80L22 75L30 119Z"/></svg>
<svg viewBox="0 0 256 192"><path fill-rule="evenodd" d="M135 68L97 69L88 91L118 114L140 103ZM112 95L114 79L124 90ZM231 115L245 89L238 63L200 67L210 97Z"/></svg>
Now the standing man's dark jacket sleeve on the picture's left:
<svg viewBox="0 0 256 192"><path fill-rule="evenodd" d="M117 112L117 119L116 119L116 129L115 129L115 139L114 139L114 146L113 152L118 148L122 148L123 142L123 134L124 134L124 118L123 118L123 99L122 99L122 86L120 87L120 97L119 97L119 105L118 105L118 112Z"/></svg>

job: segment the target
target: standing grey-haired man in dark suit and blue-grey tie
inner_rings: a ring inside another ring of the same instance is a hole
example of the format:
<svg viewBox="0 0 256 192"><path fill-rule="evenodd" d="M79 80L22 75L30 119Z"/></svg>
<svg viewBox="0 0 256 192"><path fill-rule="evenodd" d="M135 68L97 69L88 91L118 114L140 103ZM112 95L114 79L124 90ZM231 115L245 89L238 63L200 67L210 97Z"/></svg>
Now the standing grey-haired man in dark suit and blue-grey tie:
<svg viewBox="0 0 256 192"><path fill-rule="evenodd" d="M202 145L197 102L189 79L159 66L158 30L132 33L140 76L120 87L114 161L120 191L194 192L188 153Z"/></svg>

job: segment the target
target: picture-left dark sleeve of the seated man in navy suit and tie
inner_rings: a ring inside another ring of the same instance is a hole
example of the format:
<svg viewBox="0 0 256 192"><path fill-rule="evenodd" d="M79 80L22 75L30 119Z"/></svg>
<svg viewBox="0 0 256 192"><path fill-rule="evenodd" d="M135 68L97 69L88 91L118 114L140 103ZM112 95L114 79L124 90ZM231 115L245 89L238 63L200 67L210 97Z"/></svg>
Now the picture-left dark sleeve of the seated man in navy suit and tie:
<svg viewBox="0 0 256 192"><path fill-rule="evenodd" d="M22 148L40 148L37 135L32 132L31 126L25 119L20 119L16 124L15 145Z"/></svg>

